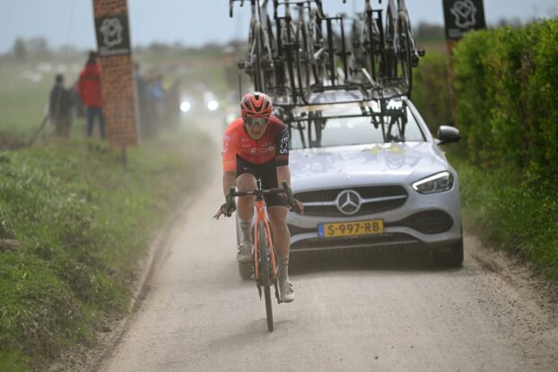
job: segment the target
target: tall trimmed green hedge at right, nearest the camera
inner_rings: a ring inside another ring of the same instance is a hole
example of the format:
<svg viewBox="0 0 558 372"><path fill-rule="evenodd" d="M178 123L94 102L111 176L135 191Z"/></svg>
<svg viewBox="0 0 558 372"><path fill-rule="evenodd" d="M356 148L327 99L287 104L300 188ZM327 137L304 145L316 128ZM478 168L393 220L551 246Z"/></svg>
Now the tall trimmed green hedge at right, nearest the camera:
<svg viewBox="0 0 558 372"><path fill-rule="evenodd" d="M527 183L558 182L558 19L474 31L455 49L456 120L468 157L518 167Z"/></svg>

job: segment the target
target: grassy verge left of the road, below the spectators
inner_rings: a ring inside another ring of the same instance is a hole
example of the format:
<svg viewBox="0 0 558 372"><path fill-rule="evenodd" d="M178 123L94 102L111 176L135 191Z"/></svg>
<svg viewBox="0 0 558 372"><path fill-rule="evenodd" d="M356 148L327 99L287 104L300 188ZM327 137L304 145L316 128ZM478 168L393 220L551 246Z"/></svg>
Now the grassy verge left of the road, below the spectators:
<svg viewBox="0 0 558 372"><path fill-rule="evenodd" d="M203 169L194 131L129 151L72 140L0 153L0 370L44 370L126 313L137 261Z"/></svg>

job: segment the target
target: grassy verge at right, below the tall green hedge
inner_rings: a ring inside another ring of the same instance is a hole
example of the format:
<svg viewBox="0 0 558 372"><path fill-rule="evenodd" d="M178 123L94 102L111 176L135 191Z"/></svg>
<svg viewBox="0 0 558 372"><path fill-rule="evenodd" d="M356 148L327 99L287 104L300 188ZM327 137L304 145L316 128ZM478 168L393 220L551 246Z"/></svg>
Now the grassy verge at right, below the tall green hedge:
<svg viewBox="0 0 558 372"><path fill-rule="evenodd" d="M558 191L514 169L484 171L451 156L459 173L464 219L496 249L518 252L548 279L558 279Z"/></svg>

